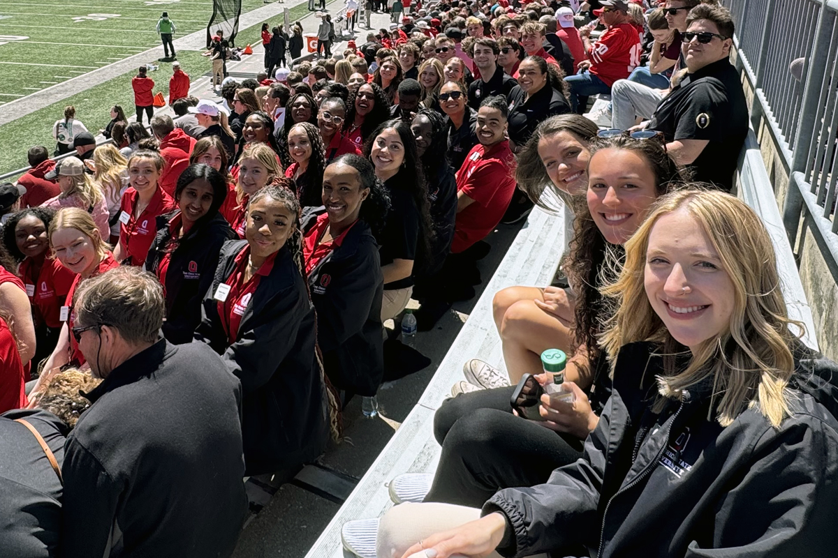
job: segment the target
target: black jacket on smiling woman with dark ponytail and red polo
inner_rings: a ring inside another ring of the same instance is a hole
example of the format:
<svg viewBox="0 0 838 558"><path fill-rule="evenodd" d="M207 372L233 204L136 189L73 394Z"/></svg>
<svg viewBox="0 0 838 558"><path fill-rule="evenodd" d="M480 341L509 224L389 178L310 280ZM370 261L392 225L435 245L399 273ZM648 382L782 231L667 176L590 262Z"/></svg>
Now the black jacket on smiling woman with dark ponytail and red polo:
<svg viewBox="0 0 838 558"><path fill-rule="evenodd" d="M303 234L317 223L323 207L307 207ZM317 310L323 367L334 387L372 397L384 376L381 296L384 275L370 225L358 221L343 243L308 274Z"/></svg>

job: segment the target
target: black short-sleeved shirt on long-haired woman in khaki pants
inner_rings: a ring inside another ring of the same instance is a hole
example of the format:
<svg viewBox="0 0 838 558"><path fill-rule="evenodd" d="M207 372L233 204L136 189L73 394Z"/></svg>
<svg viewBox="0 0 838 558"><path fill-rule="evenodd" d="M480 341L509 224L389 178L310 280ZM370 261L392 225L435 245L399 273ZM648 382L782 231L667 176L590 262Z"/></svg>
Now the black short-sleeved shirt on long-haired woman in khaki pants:
<svg viewBox="0 0 838 558"><path fill-rule="evenodd" d="M401 174L401 172L399 173ZM392 264L396 259L414 260L416 268L416 248L419 244L419 208L410 192L401 187L399 174L385 182L390 192L390 212L384 227L379 255L381 266ZM405 289L413 284L413 275L384 285L385 290Z"/></svg>

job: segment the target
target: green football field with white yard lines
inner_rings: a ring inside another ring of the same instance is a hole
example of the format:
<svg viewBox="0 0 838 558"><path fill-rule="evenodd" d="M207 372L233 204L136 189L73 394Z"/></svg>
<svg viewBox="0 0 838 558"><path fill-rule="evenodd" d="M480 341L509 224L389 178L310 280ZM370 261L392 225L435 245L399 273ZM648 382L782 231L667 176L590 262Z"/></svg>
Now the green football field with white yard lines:
<svg viewBox="0 0 838 558"><path fill-rule="evenodd" d="M241 12L262 5L242 0ZM206 28L212 2L2 0L0 104L159 46L163 11L178 26L177 39Z"/></svg>

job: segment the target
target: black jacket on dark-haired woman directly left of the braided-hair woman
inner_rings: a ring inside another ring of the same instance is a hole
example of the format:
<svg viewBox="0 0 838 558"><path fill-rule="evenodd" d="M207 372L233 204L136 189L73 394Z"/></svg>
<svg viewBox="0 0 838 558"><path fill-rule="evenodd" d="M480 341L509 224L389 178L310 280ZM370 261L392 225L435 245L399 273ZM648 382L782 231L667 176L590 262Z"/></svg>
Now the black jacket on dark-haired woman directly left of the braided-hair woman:
<svg viewBox="0 0 838 558"><path fill-rule="evenodd" d="M148 250L145 268L157 274L171 233L168 222L179 209L157 218L158 233ZM166 272L166 321L163 336L170 343L189 343L201 323L201 301L218 267L221 247L236 237L233 229L219 213L209 221L193 227L180 239L168 262Z"/></svg>

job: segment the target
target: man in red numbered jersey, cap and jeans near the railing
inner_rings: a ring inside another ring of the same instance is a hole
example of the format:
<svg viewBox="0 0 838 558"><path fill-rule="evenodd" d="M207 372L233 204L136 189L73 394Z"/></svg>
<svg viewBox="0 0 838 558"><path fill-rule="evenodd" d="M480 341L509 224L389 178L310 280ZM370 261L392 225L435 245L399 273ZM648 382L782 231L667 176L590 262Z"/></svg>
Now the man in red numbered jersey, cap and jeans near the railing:
<svg viewBox="0 0 838 558"><path fill-rule="evenodd" d="M584 114L590 95L609 94L618 79L626 79L640 64L641 29L629 17L629 4L625 0L601 0L602 8L594 15L602 18L608 29L596 43L591 42L591 29L579 32L588 59L578 63L579 72L565 78L571 86L573 109Z"/></svg>

